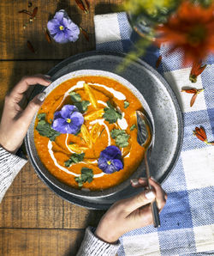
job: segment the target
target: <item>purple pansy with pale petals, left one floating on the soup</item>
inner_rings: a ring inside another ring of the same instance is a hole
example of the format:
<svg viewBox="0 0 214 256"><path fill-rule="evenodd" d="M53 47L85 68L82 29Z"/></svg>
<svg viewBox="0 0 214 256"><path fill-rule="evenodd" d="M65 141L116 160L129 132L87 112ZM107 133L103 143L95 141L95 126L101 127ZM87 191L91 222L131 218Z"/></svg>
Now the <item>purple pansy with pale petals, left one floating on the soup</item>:
<svg viewBox="0 0 214 256"><path fill-rule="evenodd" d="M51 127L60 133L76 134L84 122L82 114L74 105L64 105L61 111L54 113Z"/></svg>

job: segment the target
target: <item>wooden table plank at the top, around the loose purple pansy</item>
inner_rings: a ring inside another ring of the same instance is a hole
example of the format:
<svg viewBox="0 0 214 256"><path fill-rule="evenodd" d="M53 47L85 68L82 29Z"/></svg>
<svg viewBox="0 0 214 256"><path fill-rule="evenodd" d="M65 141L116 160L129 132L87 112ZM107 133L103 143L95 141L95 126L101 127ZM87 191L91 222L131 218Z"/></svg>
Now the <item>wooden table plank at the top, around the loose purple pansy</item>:
<svg viewBox="0 0 214 256"><path fill-rule="evenodd" d="M33 0L33 6L27 8L28 1L0 1L0 24L1 24L1 59L62 59L94 49L94 14L115 12L121 0L92 0L90 12L85 14L78 8L74 0ZM26 29L23 25L29 20L29 15L18 13L22 9L38 7L38 14ZM52 40L48 43L45 39L45 28L56 10L65 9L71 19L89 34L89 42L80 34L80 39L74 43L57 44ZM27 48L29 40L36 53Z"/></svg>

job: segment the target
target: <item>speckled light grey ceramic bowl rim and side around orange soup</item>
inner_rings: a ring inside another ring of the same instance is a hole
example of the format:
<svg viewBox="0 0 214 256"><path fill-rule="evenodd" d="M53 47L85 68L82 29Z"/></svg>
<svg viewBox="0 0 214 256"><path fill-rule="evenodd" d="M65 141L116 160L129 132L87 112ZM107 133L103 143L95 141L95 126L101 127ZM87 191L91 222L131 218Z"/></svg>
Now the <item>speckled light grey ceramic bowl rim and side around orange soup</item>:
<svg viewBox="0 0 214 256"><path fill-rule="evenodd" d="M148 107L148 104L146 103L143 95L140 94L139 90L137 88L135 88L134 85L132 85L126 79L122 78L122 76L118 76L118 75L116 75L114 73L107 72L107 71L104 71L104 70L77 70L77 71L70 72L70 73L68 73L68 74L66 74L64 76L61 76L58 79L56 79L56 81L52 82L51 85L48 88L45 88L45 93L46 94L50 94L51 91L54 88L56 88L59 84L61 84L62 82L65 82L68 79L71 79L71 78L74 78L74 77L78 77L78 76L81 76L81 77L83 77L83 76L107 76L107 77L110 77L110 78L116 80L117 82L122 83L123 86L127 87L128 89L130 89L133 92L133 94L139 99L139 101L141 102L142 106L146 110L146 113L148 114L149 118L152 121L152 125L153 125L153 140L154 140L154 137L155 137L155 127L154 127L154 121L152 119L152 112L151 112L150 108ZM34 116L33 122L30 125L29 130L27 131L26 143L27 143L28 155L30 156L30 160L31 160L31 162L33 164L33 167L36 169L36 171L39 171L39 173L43 174L45 176L46 180L49 180L49 182L51 182L51 184L53 186L56 186L60 190L62 190L64 192L67 192L67 193L73 195L74 197L76 196L78 198L102 198L102 197L108 197L111 194L115 194L116 192L120 192L123 189L125 189L126 187L128 187L130 185L130 179L139 178L140 174L142 174L142 169L145 168L144 161L141 162L140 167L136 169L134 174L132 174L129 177L128 180L123 181L121 184L119 184L117 186L110 187L109 189L105 189L105 190L102 190L102 191L96 191L96 192L90 192L90 191L84 191L84 190L80 190L80 189L75 189L75 188L73 188L71 186L65 185L61 181L57 180L47 170L47 168L45 168L45 166L43 165L43 163L39 159L39 155L38 155L37 150L35 148L34 136L33 136L33 131L34 131L33 128L34 128L34 124L35 124L36 115Z"/></svg>

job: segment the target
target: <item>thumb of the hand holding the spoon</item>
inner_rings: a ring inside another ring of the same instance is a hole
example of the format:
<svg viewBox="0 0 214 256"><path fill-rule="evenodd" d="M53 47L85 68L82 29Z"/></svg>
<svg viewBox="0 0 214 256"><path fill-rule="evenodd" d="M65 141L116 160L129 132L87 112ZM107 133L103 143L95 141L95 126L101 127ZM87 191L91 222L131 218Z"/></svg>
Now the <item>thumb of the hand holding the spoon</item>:
<svg viewBox="0 0 214 256"><path fill-rule="evenodd" d="M126 211L133 212L134 210L140 208L143 205L151 203L156 197L155 192L152 190L145 190L140 192L133 198L128 198L126 202Z"/></svg>

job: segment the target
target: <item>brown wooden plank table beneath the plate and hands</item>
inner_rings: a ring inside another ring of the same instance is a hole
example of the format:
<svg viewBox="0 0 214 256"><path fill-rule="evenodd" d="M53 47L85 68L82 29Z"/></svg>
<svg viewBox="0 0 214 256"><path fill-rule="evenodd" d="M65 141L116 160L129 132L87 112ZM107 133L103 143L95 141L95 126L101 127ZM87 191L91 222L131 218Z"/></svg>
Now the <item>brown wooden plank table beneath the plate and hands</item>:
<svg viewBox="0 0 214 256"><path fill-rule="evenodd" d="M32 0L0 2L0 113L6 92L24 75L46 74L62 59L95 49L93 15L116 11L122 0L91 0L90 13L84 14L74 0ZM26 29L29 16L38 15ZM89 42L81 34L75 43L50 44L45 26L56 10L65 9L72 20L86 29ZM36 53L27 48L27 40ZM75 255L88 225L96 226L104 211L86 210L57 197L39 179L30 163L22 168L0 204L0 255Z"/></svg>

